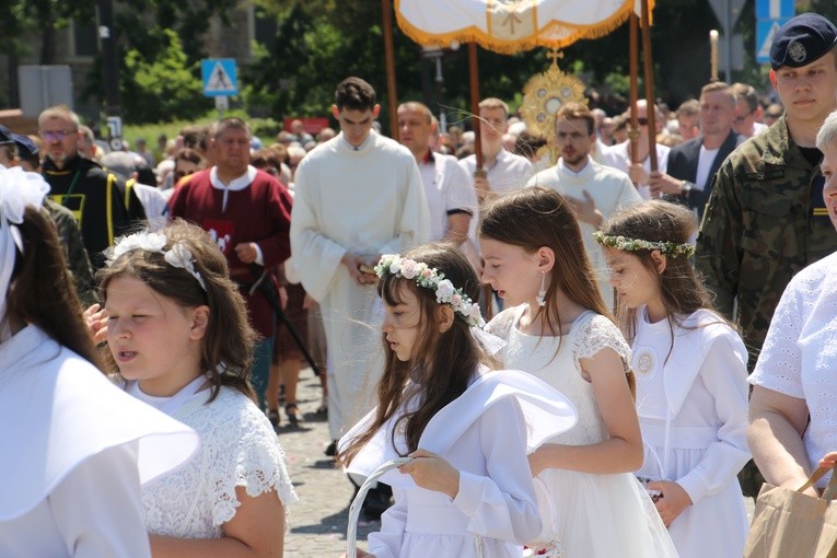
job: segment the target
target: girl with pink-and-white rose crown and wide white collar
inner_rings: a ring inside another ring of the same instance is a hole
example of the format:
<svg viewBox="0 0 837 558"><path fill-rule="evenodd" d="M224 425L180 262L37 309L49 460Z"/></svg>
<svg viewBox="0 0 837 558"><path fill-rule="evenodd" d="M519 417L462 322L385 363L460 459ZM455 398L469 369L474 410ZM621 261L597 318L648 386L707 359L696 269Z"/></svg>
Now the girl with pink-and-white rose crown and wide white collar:
<svg viewBox="0 0 837 558"><path fill-rule="evenodd" d="M540 528L527 442L570 428L572 406L527 374L486 367L472 303L479 283L456 248L385 255L375 272L386 351L379 405L340 440L338 460L367 476L412 461L382 477L395 503L359 556L519 558Z"/></svg>

